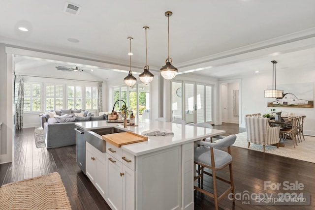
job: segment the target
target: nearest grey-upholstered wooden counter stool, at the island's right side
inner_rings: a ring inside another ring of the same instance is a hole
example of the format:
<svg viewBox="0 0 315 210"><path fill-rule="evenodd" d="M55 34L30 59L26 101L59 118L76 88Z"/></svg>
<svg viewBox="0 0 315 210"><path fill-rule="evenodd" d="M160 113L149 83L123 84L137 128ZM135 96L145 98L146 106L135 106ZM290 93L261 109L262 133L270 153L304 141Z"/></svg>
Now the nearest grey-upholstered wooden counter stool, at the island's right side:
<svg viewBox="0 0 315 210"><path fill-rule="evenodd" d="M230 149L230 146L234 144L235 140L236 135L229 135L216 141L215 143L199 141L197 144L201 146L194 149L194 163L201 167L201 173L194 177L194 180L201 178L201 187L194 185L194 189L214 198L216 210L218 210L219 201L221 201L221 199L229 192L232 193L233 203L235 202L232 156ZM220 148L227 148L227 152L220 150ZM217 170L221 170L226 166L229 166L230 180L222 179L216 175ZM206 172L204 168L210 169L211 173ZM203 177L205 174L212 177L214 193L211 193L203 188ZM217 179L230 185L220 196L217 191Z"/></svg>

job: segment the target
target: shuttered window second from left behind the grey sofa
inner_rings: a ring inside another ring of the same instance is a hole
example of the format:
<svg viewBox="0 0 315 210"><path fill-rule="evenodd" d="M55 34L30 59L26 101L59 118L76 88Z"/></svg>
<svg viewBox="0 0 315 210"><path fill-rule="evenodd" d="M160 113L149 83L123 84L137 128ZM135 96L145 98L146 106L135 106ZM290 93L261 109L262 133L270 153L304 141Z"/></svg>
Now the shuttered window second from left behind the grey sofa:
<svg viewBox="0 0 315 210"><path fill-rule="evenodd" d="M63 109L63 85L46 85L46 110Z"/></svg>

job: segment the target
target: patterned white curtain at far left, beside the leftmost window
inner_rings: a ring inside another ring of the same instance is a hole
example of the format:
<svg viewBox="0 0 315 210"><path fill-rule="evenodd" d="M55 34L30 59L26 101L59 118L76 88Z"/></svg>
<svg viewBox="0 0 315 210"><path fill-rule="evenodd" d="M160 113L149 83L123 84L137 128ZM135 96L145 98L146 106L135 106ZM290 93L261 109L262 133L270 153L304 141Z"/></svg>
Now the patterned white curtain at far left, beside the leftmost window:
<svg viewBox="0 0 315 210"><path fill-rule="evenodd" d="M15 111L15 129L23 128L23 109L24 109L24 77L18 77L19 90Z"/></svg>

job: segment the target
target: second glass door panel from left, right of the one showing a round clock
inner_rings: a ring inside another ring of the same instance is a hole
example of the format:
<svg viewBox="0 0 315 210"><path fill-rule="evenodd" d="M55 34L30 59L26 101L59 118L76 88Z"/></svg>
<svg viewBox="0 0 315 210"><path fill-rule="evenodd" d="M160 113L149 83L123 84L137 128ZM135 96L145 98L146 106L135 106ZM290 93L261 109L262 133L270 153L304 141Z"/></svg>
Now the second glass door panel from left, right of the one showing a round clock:
<svg viewBox="0 0 315 210"><path fill-rule="evenodd" d="M194 84L185 83L185 118L186 123L193 123L195 111Z"/></svg>

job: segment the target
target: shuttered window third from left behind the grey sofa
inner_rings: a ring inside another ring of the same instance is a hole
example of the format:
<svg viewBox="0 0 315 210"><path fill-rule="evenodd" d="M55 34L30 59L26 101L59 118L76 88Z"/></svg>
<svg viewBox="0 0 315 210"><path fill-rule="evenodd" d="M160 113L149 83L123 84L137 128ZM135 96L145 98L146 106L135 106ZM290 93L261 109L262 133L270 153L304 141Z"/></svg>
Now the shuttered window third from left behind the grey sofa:
<svg viewBox="0 0 315 210"><path fill-rule="evenodd" d="M67 109L82 108L82 87L68 86L67 87Z"/></svg>

